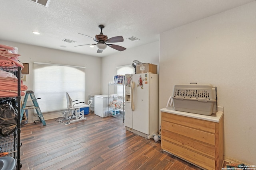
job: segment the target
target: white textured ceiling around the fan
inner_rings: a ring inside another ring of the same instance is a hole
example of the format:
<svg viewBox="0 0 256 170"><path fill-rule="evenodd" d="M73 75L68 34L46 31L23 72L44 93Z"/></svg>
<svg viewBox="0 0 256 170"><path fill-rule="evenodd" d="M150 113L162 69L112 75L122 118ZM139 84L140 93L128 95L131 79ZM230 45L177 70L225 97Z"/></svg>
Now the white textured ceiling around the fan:
<svg viewBox="0 0 256 170"><path fill-rule="evenodd" d="M122 53L107 47L75 45L95 43L100 33L108 38L122 35L113 43L130 49L158 41L159 33L255 0L51 0L48 8L29 0L0 0L0 39L38 45L96 57ZM34 35L39 31L41 35ZM130 41L134 36L140 41ZM67 43L70 39L76 43ZM66 47L61 47L66 46Z"/></svg>

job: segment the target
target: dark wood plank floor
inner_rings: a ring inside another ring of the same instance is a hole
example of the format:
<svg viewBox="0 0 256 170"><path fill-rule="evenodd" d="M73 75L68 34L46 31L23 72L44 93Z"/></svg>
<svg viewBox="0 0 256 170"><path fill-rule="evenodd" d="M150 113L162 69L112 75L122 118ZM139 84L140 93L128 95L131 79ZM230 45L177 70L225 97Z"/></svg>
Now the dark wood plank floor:
<svg viewBox="0 0 256 170"><path fill-rule="evenodd" d="M55 119L22 125L22 170L200 170L126 131L122 119L86 117L70 125Z"/></svg>

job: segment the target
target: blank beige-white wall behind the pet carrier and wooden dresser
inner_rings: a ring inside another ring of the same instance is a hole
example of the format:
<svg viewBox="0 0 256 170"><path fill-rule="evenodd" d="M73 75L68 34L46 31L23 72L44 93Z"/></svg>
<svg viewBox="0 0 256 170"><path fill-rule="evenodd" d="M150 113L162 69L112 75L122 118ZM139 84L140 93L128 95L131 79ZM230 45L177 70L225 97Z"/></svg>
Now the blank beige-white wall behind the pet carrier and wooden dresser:
<svg viewBox="0 0 256 170"><path fill-rule="evenodd" d="M174 84L217 87L224 156L256 164L256 2L160 34L160 108Z"/></svg>

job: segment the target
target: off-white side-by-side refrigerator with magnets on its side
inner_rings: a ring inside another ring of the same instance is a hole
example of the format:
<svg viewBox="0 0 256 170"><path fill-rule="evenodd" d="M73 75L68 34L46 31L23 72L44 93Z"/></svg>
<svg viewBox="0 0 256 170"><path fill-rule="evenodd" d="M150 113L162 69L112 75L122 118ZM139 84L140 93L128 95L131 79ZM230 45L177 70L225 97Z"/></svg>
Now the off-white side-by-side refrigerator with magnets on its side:
<svg viewBox="0 0 256 170"><path fill-rule="evenodd" d="M158 132L158 74L125 75L126 130L147 139Z"/></svg>

